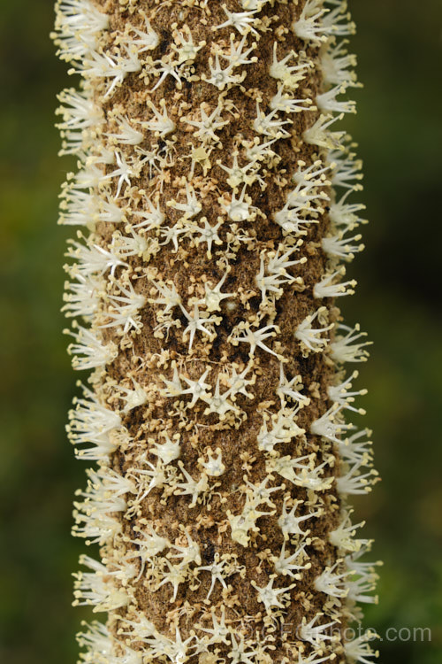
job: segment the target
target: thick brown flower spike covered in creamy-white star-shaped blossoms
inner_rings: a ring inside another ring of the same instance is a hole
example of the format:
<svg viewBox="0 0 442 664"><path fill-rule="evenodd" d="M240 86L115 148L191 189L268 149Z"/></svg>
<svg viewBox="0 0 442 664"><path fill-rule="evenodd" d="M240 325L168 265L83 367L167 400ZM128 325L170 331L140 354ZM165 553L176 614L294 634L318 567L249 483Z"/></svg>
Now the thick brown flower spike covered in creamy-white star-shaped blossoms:
<svg viewBox="0 0 442 664"><path fill-rule="evenodd" d="M377 481L352 413L365 335L339 297L362 250L342 0L58 0L78 158L60 223L69 415L92 464L74 535L85 662L316 664L376 563L350 500ZM347 367L350 367L349 369Z"/></svg>

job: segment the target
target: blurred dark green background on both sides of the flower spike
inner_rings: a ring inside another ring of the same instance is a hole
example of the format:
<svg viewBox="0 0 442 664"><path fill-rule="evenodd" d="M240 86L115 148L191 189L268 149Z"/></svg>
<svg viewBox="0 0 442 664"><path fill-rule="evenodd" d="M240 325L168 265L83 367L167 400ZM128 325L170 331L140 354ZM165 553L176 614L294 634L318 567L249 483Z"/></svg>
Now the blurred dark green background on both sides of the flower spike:
<svg viewBox="0 0 442 664"><path fill-rule="evenodd" d="M358 504L376 558L380 603L366 624L430 627L431 643L384 640L385 664L442 660L442 394L440 151L442 4L351 0L358 24L359 113L367 250L345 305L375 342L362 365L364 405L383 477ZM59 312L66 231L56 225L68 159L57 158L55 96L74 81L49 40L51 0L2 0L0 12L0 660L75 661L79 609L71 572L71 497L84 467L65 440L75 376ZM346 127L348 127L348 122Z"/></svg>

